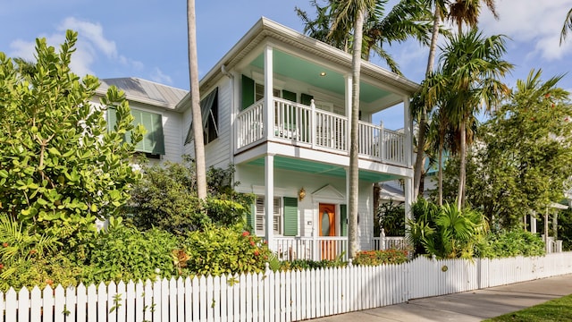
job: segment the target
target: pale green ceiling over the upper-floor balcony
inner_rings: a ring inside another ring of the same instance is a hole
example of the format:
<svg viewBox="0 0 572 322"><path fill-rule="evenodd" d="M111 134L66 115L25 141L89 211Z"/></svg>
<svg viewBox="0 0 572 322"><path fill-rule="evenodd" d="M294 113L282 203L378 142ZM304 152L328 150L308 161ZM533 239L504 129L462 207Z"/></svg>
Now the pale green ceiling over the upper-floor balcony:
<svg viewBox="0 0 572 322"><path fill-rule="evenodd" d="M264 53L258 55L251 65L264 70ZM273 69L275 73L284 77L305 82L316 88L332 91L342 97L345 95L343 74L297 56L286 54L276 48L273 50ZM320 72L325 72L326 75L320 76ZM372 103L390 95L391 92L387 90L376 88L364 81L360 83L359 98L363 102Z"/></svg>

